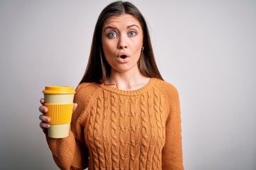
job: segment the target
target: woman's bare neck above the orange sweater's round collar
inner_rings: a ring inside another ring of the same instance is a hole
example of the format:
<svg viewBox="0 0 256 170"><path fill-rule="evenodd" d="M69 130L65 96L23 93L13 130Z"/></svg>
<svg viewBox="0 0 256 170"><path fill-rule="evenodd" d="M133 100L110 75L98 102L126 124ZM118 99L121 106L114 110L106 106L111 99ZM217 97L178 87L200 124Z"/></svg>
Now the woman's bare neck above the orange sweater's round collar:
<svg viewBox="0 0 256 170"><path fill-rule="evenodd" d="M113 88L132 91L145 86L149 79L149 77L144 77L140 72L111 72L105 84Z"/></svg>

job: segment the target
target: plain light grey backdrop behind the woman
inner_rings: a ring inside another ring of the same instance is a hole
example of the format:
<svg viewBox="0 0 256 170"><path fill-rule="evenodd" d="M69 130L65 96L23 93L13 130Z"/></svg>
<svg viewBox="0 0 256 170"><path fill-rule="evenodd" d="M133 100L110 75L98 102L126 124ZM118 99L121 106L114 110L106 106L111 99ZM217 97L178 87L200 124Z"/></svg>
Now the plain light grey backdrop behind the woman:
<svg viewBox="0 0 256 170"><path fill-rule="evenodd" d="M0 169L58 169L39 128L47 85L78 85L106 0L0 1ZM256 169L256 1L132 1L181 100L188 170Z"/></svg>

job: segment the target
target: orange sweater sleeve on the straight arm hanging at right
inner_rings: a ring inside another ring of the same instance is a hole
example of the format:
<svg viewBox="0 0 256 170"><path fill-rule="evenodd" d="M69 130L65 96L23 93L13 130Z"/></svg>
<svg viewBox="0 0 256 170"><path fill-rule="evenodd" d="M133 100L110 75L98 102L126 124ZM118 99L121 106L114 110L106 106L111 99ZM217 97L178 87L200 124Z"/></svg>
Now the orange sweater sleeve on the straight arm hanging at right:
<svg viewBox="0 0 256 170"><path fill-rule="evenodd" d="M181 109L178 91L172 86L167 93L169 115L166 120L166 144L162 150L162 169L183 170Z"/></svg>

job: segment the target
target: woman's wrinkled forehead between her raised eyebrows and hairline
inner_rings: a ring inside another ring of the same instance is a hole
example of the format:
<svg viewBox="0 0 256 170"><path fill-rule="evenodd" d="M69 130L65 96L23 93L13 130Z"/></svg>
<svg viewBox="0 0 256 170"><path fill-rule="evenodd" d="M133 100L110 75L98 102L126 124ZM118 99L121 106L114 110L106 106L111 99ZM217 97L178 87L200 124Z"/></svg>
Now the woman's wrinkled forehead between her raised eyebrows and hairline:
<svg viewBox="0 0 256 170"><path fill-rule="evenodd" d="M137 26L141 27L139 20L137 18L135 18L134 16L132 16L131 14L127 14L127 13L124 13L124 14L121 14L118 16L110 16L110 18L107 18L107 20L105 21L105 23L103 25L103 29L106 26L109 26L112 24L113 25L122 24L122 25L127 25L127 26L136 24Z"/></svg>

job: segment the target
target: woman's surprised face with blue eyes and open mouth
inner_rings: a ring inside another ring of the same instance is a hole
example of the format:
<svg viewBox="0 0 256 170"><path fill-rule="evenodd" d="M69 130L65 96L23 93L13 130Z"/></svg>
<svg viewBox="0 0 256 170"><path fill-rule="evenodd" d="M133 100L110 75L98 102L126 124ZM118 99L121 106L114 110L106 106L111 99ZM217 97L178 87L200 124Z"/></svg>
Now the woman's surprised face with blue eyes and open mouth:
<svg viewBox="0 0 256 170"><path fill-rule="evenodd" d="M102 28L102 47L111 72L139 71L143 30L134 16L111 16Z"/></svg>

